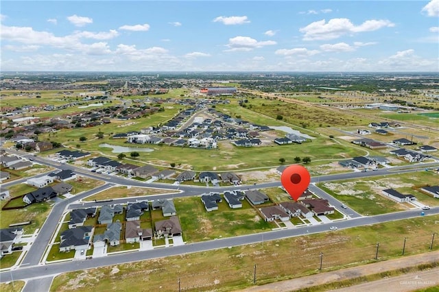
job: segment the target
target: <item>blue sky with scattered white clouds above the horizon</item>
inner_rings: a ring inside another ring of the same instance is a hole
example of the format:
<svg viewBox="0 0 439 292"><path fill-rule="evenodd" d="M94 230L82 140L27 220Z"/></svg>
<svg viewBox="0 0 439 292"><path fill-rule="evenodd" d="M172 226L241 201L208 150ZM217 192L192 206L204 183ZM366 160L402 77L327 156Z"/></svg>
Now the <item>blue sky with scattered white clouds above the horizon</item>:
<svg viewBox="0 0 439 292"><path fill-rule="evenodd" d="M1 71L439 71L439 0L1 1Z"/></svg>

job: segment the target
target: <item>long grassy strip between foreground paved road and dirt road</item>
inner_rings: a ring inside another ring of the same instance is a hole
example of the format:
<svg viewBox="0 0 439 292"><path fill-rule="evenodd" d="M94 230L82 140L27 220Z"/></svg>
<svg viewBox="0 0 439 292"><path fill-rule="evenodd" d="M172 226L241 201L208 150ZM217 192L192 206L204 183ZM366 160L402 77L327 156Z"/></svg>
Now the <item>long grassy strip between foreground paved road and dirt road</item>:
<svg viewBox="0 0 439 292"><path fill-rule="evenodd" d="M250 287L257 265L257 283L299 278L401 256L404 237L405 254L428 252L432 232L437 232L439 216L361 226L337 232L324 232L291 239L266 241L254 245L231 247L210 252L158 258L139 263L101 267L64 273L55 278L51 291L108 291L148 289L176 291L180 279L183 291L235 291ZM436 244L433 250L439 250ZM300 262L292 269L292 263ZM194 263L197 263L196 265ZM163 283L166 273L166 284ZM174 280L172 280L174 279ZM129 283L129 284L128 284Z"/></svg>

